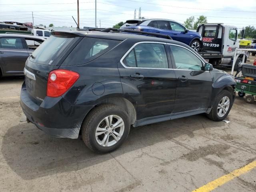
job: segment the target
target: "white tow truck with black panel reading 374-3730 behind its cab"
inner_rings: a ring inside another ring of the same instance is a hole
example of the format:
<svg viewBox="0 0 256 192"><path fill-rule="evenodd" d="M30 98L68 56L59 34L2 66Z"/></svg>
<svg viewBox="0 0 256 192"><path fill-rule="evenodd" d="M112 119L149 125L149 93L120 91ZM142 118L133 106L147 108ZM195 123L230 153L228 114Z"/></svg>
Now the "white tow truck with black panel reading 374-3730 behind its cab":
<svg viewBox="0 0 256 192"><path fill-rule="evenodd" d="M235 49L239 48L238 28L223 23L200 24L196 30L202 35L203 48L198 52L213 66L232 66ZM242 36L244 32L242 32ZM235 70L242 63L244 54L236 60ZM245 61L246 62L246 57Z"/></svg>

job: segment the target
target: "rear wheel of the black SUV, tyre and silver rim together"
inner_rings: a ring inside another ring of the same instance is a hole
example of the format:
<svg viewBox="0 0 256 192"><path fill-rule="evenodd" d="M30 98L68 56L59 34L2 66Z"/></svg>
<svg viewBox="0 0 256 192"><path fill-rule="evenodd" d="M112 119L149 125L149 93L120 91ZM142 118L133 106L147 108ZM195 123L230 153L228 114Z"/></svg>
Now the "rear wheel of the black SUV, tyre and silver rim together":
<svg viewBox="0 0 256 192"><path fill-rule="evenodd" d="M128 114L113 104L104 104L94 108L82 124L84 143L97 153L116 150L127 138L129 131Z"/></svg>

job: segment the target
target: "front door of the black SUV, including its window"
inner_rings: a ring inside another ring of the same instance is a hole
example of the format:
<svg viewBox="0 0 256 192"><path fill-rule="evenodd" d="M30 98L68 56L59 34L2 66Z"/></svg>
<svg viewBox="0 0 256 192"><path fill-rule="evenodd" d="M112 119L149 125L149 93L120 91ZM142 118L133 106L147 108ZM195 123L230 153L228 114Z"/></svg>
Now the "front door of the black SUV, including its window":
<svg viewBox="0 0 256 192"><path fill-rule="evenodd" d="M212 93L212 77L204 62L190 49L169 45L176 74L176 98L173 113L207 110Z"/></svg>

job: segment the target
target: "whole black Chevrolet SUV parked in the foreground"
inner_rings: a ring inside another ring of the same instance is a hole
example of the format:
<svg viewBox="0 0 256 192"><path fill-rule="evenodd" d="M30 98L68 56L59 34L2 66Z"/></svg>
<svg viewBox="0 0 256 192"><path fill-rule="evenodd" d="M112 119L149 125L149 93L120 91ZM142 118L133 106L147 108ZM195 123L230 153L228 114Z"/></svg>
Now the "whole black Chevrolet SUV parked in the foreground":
<svg viewBox="0 0 256 192"><path fill-rule="evenodd" d="M206 113L226 118L233 76L174 40L114 32L52 32L26 61L28 122L105 153L142 126Z"/></svg>

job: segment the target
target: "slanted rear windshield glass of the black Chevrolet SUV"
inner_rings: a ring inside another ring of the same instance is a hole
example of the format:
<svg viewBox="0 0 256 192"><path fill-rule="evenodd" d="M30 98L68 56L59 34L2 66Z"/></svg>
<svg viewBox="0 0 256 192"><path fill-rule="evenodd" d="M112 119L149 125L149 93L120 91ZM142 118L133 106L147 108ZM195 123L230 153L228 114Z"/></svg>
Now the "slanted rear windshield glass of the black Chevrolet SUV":
<svg viewBox="0 0 256 192"><path fill-rule="evenodd" d="M54 65L68 49L74 37L50 36L29 57L29 60L39 64Z"/></svg>

